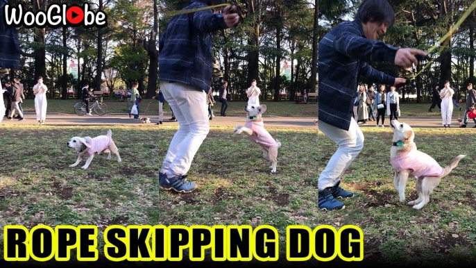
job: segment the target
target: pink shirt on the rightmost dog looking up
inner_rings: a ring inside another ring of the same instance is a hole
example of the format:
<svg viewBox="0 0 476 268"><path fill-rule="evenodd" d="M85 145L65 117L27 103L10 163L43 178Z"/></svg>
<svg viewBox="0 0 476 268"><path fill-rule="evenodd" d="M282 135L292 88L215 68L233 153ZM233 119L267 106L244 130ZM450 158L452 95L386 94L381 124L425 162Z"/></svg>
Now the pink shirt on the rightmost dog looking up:
<svg viewBox="0 0 476 268"><path fill-rule="evenodd" d="M442 176L445 170L436 160L426 153L411 150L398 158L390 160L393 169L400 172L404 169L413 169L411 175L419 177Z"/></svg>

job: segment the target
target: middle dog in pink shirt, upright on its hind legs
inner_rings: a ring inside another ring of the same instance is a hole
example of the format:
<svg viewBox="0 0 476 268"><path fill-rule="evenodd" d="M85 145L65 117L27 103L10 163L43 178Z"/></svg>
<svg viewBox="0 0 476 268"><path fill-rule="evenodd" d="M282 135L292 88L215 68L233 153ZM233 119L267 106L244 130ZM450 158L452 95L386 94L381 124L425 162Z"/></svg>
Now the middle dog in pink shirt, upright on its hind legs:
<svg viewBox="0 0 476 268"><path fill-rule="evenodd" d="M256 144L260 145L264 152L266 160L271 162L271 173L276 172L276 165L278 163L278 148L281 146L279 140L274 140L266 129L264 129L264 122L262 114L266 112L266 106L246 106L245 126L237 126L235 133L246 133Z"/></svg>

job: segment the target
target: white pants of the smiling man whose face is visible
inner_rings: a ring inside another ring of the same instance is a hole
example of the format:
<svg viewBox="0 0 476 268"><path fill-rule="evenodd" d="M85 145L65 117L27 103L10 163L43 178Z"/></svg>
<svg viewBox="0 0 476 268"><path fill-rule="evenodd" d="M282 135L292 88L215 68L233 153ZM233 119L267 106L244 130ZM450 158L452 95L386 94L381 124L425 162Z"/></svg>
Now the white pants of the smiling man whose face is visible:
<svg viewBox="0 0 476 268"><path fill-rule="evenodd" d="M318 179L318 190L336 185L341 180L342 174L364 148L364 133L362 133L355 119L350 120L349 131L319 122L319 130L339 145L339 149L330 158L327 167L321 172Z"/></svg>

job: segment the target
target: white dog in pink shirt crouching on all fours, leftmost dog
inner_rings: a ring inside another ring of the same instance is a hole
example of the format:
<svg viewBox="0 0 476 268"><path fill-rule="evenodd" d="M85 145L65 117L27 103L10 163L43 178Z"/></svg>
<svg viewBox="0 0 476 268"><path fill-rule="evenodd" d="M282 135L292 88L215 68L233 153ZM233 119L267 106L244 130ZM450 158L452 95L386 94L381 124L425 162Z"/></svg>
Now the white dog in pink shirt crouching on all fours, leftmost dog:
<svg viewBox="0 0 476 268"><path fill-rule="evenodd" d="M111 152L117 156L117 162L121 162L121 156L119 156L119 150L116 144L112 140L112 131L108 130L108 135L101 135L98 137L72 137L67 142L69 148L73 148L78 152L78 160L69 167L76 167L83 158L87 158L83 169L87 169L90 166L92 158L95 154L108 153L108 160L111 159Z"/></svg>

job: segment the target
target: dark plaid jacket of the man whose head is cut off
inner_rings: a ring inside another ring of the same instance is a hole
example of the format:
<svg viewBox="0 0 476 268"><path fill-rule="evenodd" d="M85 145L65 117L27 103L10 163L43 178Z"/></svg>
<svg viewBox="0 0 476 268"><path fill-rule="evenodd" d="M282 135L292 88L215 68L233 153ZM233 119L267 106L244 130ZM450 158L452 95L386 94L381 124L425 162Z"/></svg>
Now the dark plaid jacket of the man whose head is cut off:
<svg viewBox="0 0 476 268"><path fill-rule="evenodd" d="M184 9L203 8L199 0ZM159 80L184 83L208 93L212 83L212 32L227 28L211 9L173 16L159 37Z"/></svg>

